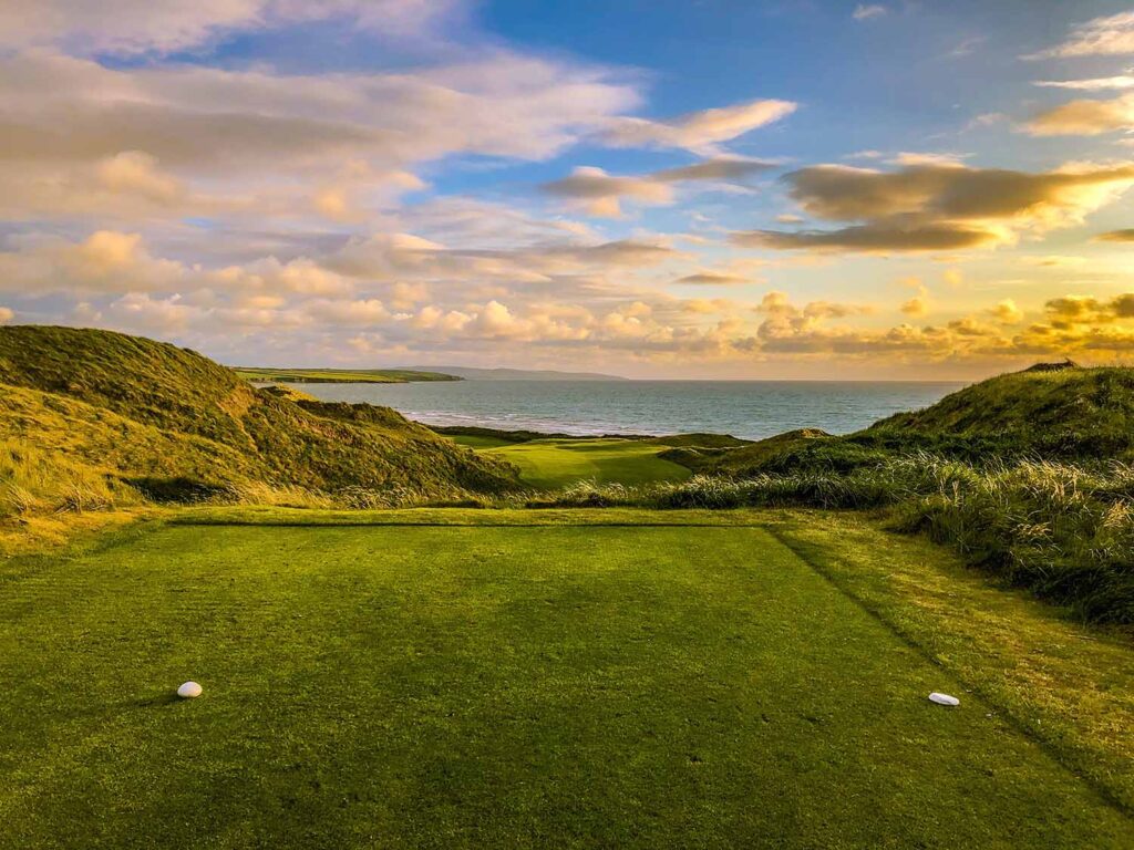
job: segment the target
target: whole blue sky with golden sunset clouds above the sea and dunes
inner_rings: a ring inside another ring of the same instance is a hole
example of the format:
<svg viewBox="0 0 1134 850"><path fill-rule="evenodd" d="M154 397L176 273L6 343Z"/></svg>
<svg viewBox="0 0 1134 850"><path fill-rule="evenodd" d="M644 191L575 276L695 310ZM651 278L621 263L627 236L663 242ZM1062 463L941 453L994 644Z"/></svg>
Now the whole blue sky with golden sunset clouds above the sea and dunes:
<svg viewBox="0 0 1134 850"><path fill-rule="evenodd" d="M0 0L0 323L263 366L1134 363L1134 6Z"/></svg>

